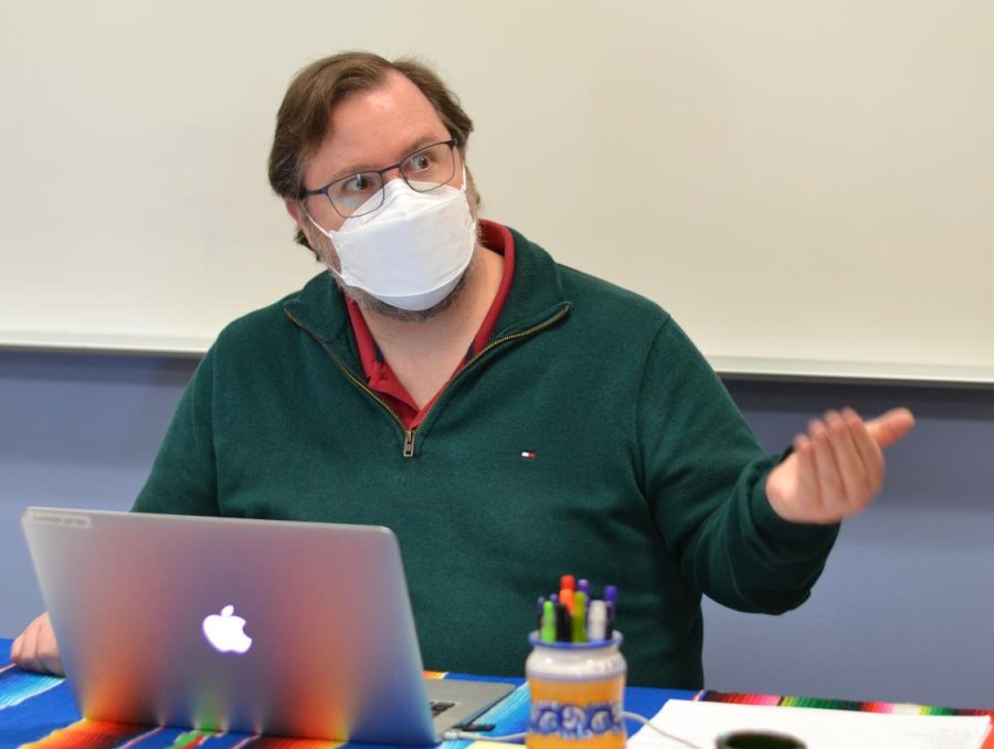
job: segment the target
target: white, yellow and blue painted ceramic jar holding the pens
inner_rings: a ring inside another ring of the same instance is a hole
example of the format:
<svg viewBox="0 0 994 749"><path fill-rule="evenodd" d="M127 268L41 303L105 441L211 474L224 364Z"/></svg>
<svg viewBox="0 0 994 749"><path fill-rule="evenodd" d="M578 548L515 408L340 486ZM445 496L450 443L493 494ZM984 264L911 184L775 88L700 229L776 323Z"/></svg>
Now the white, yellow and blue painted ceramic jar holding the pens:
<svg viewBox="0 0 994 749"><path fill-rule="evenodd" d="M615 632L603 642L542 642L529 636L525 662L531 714L525 743L532 749L621 749L627 665Z"/></svg>

